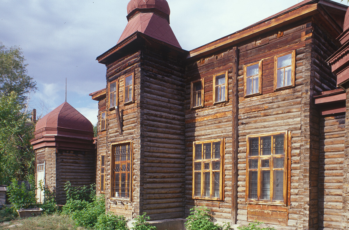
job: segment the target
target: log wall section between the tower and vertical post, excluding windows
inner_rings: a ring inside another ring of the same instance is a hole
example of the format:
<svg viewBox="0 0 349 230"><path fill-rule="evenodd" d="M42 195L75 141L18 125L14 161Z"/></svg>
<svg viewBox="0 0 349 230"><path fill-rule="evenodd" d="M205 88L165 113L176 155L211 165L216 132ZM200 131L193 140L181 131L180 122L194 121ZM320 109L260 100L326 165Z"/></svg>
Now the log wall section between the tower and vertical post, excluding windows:
<svg viewBox="0 0 349 230"><path fill-rule="evenodd" d="M233 62L236 49L228 49L214 55L192 60L186 67L185 89L185 147L186 147L186 210L194 205L206 206L213 210L214 218L229 221L232 213L232 85ZM218 104L213 103L213 75L228 71L228 100ZM204 79L204 105L191 109L191 82ZM193 180L193 142L223 138L224 173L223 200L209 201L192 198Z"/></svg>

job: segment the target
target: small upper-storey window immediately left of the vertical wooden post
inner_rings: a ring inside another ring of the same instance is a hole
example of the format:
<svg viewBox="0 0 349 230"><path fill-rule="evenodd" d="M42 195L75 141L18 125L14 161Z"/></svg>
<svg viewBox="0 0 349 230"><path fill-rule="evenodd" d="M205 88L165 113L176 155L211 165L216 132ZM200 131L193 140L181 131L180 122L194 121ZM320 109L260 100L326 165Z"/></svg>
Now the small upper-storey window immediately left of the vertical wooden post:
<svg viewBox="0 0 349 230"><path fill-rule="evenodd" d="M228 71L213 76L213 101L225 102L228 98Z"/></svg>

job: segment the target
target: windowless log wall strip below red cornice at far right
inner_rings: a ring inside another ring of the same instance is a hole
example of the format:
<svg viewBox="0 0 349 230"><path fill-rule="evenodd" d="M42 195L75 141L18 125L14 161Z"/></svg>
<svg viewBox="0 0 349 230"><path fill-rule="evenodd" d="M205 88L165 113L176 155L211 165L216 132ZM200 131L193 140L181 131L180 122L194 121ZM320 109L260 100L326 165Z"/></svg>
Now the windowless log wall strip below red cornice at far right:
<svg viewBox="0 0 349 230"><path fill-rule="evenodd" d="M342 189L345 115L321 117L319 164L319 227L343 229Z"/></svg>

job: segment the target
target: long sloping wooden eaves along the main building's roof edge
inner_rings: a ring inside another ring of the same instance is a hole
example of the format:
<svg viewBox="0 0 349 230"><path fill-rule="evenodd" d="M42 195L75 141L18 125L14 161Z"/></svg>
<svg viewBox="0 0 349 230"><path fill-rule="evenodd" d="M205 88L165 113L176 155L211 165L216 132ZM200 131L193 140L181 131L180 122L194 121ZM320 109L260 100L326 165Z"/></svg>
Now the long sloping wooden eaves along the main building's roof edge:
<svg viewBox="0 0 349 230"><path fill-rule="evenodd" d="M293 7L283 10L280 13L252 24L249 27L191 50L187 56L187 59L200 58L208 53L235 46L243 40L250 39L265 32L275 30L284 25L315 15L320 15L320 20L321 18L324 18L325 20L321 20L321 22L325 23L328 28L331 28L332 33L334 33L334 37L337 37L341 34L342 27L327 12L327 9L330 8L336 12L342 12L344 16L347 6L340 3L334 4L327 0L305 0Z"/></svg>

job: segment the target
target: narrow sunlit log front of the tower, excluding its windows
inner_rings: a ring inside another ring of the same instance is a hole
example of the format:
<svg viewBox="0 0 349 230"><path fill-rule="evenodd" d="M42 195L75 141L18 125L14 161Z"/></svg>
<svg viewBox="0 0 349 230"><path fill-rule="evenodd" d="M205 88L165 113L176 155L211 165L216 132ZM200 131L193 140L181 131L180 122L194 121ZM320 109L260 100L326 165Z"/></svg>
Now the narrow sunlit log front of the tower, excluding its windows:
<svg viewBox="0 0 349 230"><path fill-rule="evenodd" d="M105 198L106 198L106 209L107 211L114 212L117 215L124 215L126 218L131 219L133 214L139 215L140 210L140 187L139 184L142 181L140 174L140 57L141 53L136 52L134 54L126 55L124 58L107 65L107 86L109 82L117 79L119 82L118 95L119 95L119 113L121 118L122 135L119 133L118 123L116 119L116 111L106 111L106 138L101 137L98 139L98 158L102 153L106 154L106 179L105 179ZM124 78L126 74L134 73L135 80L135 102L124 105ZM109 95L109 88L107 87L106 95ZM107 96L108 98L108 96ZM108 105L108 100L106 100ZM101 108L103 105L101 105ZM109 106L107 106L109 107ZM111 144L122 142L122 141L133 141L133 173L132 173L132 201L123 201L111 198ZM104 150L106 152L104 152Z"/></svg>

